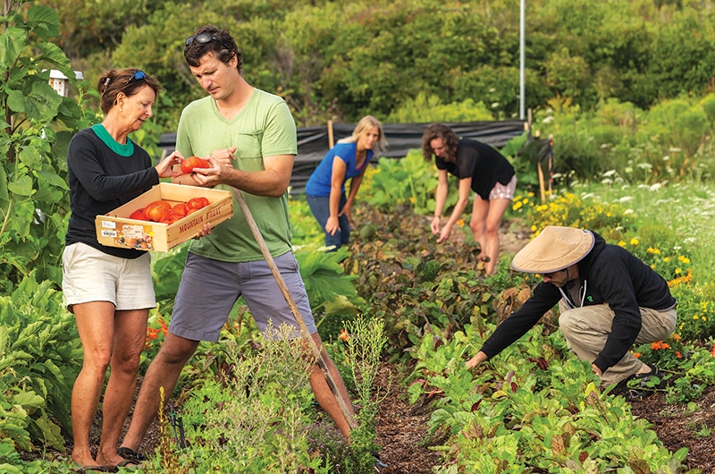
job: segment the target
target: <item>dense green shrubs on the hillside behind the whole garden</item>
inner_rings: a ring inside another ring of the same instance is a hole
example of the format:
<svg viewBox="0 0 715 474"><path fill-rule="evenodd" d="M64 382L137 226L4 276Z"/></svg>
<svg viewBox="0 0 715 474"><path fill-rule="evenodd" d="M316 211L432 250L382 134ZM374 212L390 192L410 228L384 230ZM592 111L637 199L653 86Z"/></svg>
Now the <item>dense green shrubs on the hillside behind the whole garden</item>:
<svg viewBox="0 0 715 474"><path fill-rule="evenodd" d="M285 97L299 124L384 119L418 93L442 104L473 99L492 118L519 110L518 3L42 0L57 44L90 83L136 66L171 91L161 123L201 95L182 57L202 24L231 30L249 82ZM526 2L526 106L568 98L583 110L610 98L645 109L712 87L715 17L708 2Z"/></svg>

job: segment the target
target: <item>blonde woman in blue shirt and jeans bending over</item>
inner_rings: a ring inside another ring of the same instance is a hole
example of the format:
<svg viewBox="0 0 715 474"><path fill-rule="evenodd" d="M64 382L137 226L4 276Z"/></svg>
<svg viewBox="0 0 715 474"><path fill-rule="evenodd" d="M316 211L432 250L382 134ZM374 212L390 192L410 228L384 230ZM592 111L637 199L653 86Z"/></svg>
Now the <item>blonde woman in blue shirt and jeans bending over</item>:
<svg viewBox="0 0 715 474"><path fill-rule="evenodd" d="M311 212L325 232L325 245L335 249L350 239L352 203L360 189L367 164L387 146L383 125L372 115L357 123L352 135L328 151L307 180L306 198ZM345 183L350 180L349 195Z"/></svg>

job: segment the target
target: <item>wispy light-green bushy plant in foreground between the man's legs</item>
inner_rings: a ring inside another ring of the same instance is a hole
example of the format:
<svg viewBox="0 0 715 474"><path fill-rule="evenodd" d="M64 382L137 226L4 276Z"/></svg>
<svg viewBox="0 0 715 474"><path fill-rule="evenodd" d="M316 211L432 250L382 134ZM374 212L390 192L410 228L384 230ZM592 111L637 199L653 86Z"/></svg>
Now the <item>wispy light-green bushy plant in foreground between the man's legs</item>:
<svg viewBox="0 0 715 474"><path fill-rule="evenodd" d="M202 469L318 469L307 449L312 394L304 351L277 334L253 351L229 342L222 377L189 392L181 411L190 455Z"/></svg>

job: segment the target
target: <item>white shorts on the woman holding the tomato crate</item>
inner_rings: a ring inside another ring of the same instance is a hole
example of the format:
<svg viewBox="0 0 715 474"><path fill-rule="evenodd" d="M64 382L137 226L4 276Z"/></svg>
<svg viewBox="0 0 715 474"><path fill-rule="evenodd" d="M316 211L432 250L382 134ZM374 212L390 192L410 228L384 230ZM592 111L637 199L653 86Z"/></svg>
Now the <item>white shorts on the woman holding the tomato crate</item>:
<svg viewBox="0 0 715 474"><path fill-rule="evenodd" d="M150 270L151 256L139 258L107 255L84 243L64 248L62 289L64 304L109 301L116 310L156 307Z"/></svg>

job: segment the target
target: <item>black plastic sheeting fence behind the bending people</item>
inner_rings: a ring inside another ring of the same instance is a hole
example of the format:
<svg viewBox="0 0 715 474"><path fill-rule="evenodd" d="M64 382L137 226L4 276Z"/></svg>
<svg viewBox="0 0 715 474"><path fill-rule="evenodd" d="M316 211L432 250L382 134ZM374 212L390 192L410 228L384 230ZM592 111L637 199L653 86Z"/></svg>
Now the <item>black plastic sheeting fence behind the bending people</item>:
<svg viewBox="0 0 715 474"><path fill-rule="evenodd" d="M499 122L461 122L446 123L458 137L477 139L495 148L502 148L509 140L524 133L526 122L505 120ZM381 157L401 158L410 149L422 148L422 134L429 123L383 123L383 132L388 141L387 150ZM337 142L349 137L355 129L355 123L333 123L333 140ZM175 147L176 133L164 133L159 146L167 153ZM293 193L302 193L306 182L315 167L328 152L328 126L304 127L298 129L298 156L293 165L290 186Z"/></svg>

